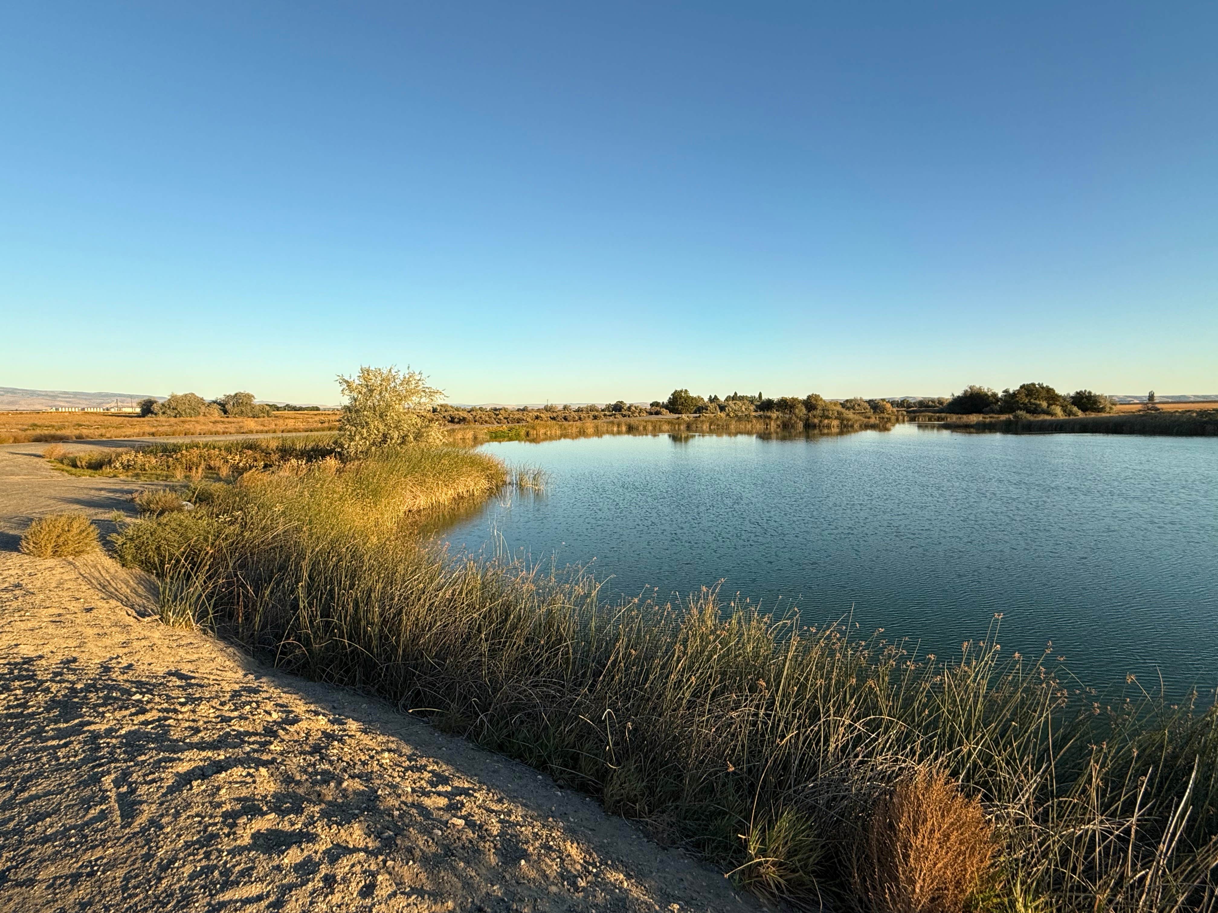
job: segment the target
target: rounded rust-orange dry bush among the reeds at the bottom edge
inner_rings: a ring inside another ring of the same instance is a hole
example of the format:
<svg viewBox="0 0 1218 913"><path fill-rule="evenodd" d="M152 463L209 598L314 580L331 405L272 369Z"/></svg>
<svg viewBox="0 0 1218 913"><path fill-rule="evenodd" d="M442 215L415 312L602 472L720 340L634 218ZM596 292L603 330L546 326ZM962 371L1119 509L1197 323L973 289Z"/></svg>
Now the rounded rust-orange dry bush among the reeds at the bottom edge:
<svg viewBox="0 0 1218 913"><path fill-rule="evenodd" d="M942 773L918 771L876 806L865 890L889 913L963 913L994 859L994 831L976 799Z"/></svg>

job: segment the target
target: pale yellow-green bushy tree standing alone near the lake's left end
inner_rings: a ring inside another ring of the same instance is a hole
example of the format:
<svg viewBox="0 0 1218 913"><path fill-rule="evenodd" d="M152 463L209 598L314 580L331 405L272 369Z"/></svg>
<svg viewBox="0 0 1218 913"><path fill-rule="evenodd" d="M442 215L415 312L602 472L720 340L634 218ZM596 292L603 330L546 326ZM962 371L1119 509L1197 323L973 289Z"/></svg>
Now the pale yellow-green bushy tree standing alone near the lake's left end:
<svg viewBox="0 0 1218 913"><path fill-rule="evenodd" d="M429 386L420 371L365 366L354 377L339 375L339 388L346 399L339 415L339 453L343 459L442 439L431 409L443 392Z"/></svg>

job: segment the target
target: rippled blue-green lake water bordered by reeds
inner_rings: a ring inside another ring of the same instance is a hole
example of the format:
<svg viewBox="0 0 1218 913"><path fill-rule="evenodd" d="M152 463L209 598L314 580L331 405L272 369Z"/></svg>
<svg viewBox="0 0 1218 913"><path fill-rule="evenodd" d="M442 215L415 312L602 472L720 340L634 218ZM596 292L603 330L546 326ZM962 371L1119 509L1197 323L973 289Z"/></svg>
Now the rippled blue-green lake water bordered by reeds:
<svg viewBox="0 0 1218 913"><path fill-rule="evenodd" d="M1051 640L1088 683L1218 684L1218 439L899 425L484 449L552 481L458 519L457 548L587 565L610 594L722 581L940 655L1002 612L1004 651Z"/></svg>

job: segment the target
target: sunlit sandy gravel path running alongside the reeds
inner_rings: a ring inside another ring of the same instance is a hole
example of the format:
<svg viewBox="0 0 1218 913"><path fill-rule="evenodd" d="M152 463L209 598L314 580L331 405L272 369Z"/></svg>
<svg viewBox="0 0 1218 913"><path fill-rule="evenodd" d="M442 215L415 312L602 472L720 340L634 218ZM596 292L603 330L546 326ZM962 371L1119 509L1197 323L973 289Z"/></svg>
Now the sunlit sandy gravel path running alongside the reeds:
<svg viewBox="0 0 1218 913"><path fill-rule="evenodd" d="M133 487L22 447L0 452L5 531ZM155 606L104 555L0 550L5 913L762 909L535 771Z"/></svg>

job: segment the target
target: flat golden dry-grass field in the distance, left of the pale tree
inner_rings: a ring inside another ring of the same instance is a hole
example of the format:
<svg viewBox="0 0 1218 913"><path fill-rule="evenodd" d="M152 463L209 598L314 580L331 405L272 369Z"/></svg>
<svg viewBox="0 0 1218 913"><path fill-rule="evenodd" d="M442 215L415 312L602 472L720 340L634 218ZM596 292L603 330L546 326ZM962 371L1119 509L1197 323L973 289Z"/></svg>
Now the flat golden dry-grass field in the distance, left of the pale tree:
<svg viewBox="0 0 1218 913"><path fill-rule="evenodd" d="M269 419L164 419L110 413L0 413L0 444L178 435L284 435L336 431L335 413L275 413Z"/></svg>

